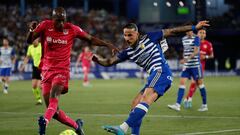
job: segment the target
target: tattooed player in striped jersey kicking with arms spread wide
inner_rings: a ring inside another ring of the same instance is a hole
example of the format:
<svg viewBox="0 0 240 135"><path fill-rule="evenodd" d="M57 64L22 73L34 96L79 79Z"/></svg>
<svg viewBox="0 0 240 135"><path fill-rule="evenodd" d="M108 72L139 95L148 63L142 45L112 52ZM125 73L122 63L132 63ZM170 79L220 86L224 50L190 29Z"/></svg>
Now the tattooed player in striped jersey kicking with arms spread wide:
<svg viewBox="0 0 240 135"><path fill-rule="evenodd" d="M148 112L149 106L170 88L172 73L164 58L159 41L164 37L192 29L208 26L208 21L201 21L196 26L188 25L140 35L136 24L129 23L123 28L124 39L129 45L117 56L103 59L93 55L93 61L103 66L111 66L125 60L135 62L149 73L145 87L137 94L132 102L132 110L128 119L120 126L103 126L105 130L116 135L124 135L132 128L132 135L140 134L142 119Z"/></svg>

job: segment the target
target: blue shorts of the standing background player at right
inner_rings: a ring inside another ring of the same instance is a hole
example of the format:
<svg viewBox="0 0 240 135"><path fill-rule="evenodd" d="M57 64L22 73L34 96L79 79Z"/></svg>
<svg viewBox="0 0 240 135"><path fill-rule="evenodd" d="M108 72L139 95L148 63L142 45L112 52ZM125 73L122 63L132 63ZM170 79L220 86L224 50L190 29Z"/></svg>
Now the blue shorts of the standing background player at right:
<svg viewBox="0 0 240 135"><path fill-rule="evenodd" d="M203 78L202 68L201 66L196 68L185 68L181 74L182 78L193 78L195 81Z"/></svg>

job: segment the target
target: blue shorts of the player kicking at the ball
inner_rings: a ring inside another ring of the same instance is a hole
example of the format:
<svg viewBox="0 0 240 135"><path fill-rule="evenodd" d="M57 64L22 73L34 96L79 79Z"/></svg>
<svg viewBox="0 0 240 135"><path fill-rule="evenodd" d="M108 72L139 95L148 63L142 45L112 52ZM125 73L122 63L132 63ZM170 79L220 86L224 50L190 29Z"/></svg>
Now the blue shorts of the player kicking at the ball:
<svg viewBox="0 0 240 135"><path fill-rule="evenodd" d="M172 81L173 78L171 71L153 71L147 79L147 84L143 87L140 93L144 93L146 88L153 88L159 97L163 96L171 87Z"/></svg>

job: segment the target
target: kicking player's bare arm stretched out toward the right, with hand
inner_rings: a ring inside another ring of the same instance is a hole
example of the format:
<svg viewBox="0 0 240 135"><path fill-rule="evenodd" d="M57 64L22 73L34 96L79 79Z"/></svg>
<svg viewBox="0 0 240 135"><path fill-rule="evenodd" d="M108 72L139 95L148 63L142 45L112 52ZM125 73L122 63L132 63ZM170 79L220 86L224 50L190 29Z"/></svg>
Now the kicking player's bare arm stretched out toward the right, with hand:
<svg viewBox="0 0 240 135"><path fill-rule="evenodd" d="M164 37L174 36L179 33L187 32L191 30L198 30L198 29L201 29L202 27L207 27L207 26L210 26L209 21L200 21L195 26L186 25L186 26L179 26L175 28L163 29L163 36Z"/></svg>

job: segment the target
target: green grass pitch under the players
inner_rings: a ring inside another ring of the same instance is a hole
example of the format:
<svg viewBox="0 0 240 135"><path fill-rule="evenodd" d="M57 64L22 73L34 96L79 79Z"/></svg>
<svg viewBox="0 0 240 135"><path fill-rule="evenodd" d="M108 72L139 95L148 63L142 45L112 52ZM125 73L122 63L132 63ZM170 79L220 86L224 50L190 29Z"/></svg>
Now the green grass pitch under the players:
<svg viewBox="0 0 240 135"><path fill-rule="evenodd" d="M83 87L81 80L70 81L69 93L60 98L60 108L70 117L85 121L86 135L110 135L102 125L122 123L130 103L143 87L139 79L92 80L92 87ZM179 79L154 103L143 120L142 135L175 134L240 134L240 78L206 77L208 112L198 112L199 91L193 98L193 108L175 112L167 108L175 103ZM45 106L36 106L31 81L13 81L8 95L0 90L0 135L37 135L37 118ZM47 135L58 135L69 129L56 120L47 127Z"/></svg>

